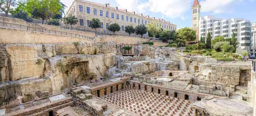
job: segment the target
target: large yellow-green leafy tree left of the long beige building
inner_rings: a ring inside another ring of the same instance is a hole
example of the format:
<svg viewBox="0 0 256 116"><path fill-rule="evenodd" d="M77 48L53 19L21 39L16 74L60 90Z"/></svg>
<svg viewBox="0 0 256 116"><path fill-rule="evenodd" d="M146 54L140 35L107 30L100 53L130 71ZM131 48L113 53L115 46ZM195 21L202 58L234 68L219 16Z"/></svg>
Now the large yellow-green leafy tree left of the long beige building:
<svg viewBox="0 0 256 116"><path fill-rule="evenodd" d="M64 12L65 5L59 0L28 0L26 9L33 18L41 18L44 20L51 18L57 14Z"/></svg>

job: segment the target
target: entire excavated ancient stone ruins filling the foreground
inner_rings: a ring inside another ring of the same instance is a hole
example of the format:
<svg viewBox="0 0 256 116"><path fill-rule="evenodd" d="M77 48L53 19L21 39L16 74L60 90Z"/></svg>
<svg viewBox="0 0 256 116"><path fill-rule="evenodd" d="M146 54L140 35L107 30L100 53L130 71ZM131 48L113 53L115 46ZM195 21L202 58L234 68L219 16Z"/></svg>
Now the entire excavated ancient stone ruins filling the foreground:
<svg viewBox="0 0 256 116"><path fill-rule="evenodd" d="M251 63L109 37L1 43L0 116L253 116Z"/></svg>

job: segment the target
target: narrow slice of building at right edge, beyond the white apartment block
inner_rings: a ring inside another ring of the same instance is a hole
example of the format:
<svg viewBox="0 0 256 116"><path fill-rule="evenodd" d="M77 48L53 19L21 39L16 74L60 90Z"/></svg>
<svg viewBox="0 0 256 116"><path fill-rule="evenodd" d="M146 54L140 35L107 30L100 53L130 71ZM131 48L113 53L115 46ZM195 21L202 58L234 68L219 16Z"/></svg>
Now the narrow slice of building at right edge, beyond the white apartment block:
<svg viewBox="0 0 256 116"><path fill-rule="evenodd" d="M256 53L256 22L251 24L251 55Z"/></svg>

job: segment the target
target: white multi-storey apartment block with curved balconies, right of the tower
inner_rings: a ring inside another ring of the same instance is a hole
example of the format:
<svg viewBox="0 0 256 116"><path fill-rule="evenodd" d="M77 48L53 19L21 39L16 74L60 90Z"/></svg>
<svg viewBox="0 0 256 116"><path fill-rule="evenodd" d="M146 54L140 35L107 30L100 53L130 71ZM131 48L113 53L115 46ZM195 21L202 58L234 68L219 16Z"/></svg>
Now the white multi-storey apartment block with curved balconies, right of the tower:
<svg viewBox="0 0 256 116"><path fill-rule="evenodd" d="M214 16L204 16L200 18L199 33L200 37L207 36L210 32L211 39L217 36L224 36L225 38L232 37L234 32L238 41L238 52L248 52L251 50L251 22L249 20L244 20L243 18L230 18L221 19L215 18Z"/></svg>

